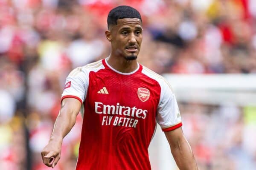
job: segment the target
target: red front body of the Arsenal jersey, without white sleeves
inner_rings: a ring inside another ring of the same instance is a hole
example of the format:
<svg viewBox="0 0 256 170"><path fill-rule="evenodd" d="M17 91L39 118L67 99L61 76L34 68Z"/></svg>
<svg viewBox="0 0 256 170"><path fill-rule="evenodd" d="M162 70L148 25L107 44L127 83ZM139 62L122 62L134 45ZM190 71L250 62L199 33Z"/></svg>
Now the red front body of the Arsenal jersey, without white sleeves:
<svg viewBox="0 0 256 170"><path fill-rule="evenodd" d="M151 169L148 146L156 127L160 86L141 73L89 73L77 169ZM149 93L148 93L149 92Z"/></svg>

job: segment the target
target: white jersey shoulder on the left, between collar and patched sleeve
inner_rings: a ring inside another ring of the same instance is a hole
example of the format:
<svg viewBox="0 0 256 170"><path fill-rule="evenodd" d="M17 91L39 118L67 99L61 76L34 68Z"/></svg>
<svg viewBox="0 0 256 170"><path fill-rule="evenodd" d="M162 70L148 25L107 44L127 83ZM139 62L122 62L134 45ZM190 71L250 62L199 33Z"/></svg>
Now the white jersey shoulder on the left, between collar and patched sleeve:
<svg viewBox="0 0 256 170"><path fill-rule="evenodd" d="M70 74L68 75L68 77L76 77L78 75L87 75L90 73L90 71L94 71L97 72L101 69L104 69L104 65L102 64L102 60L96 61L96 62L92 62L90 64L81 66L81 67L77 67L75 69L73 69Z"/></svg>

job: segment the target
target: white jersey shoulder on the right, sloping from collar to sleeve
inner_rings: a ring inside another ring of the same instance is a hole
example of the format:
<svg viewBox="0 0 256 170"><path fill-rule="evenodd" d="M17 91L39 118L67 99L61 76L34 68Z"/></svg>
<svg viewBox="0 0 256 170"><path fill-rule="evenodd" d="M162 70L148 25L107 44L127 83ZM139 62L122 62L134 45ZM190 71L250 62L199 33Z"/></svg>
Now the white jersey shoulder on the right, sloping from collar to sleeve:
<svg viewBox="0 0 256 170"><path fill-rule="evenodd" d="M143 69L142 69L142 73L145 74L147 77L154 79L155 81L158 82L158 84L160 85L161 89L166 89L169 88L172 91L172 86L171 84L166 80L166 78L164 78L163 76L155 73L154 71L150 70L149 68L145 67L144 65Z"/></svg>

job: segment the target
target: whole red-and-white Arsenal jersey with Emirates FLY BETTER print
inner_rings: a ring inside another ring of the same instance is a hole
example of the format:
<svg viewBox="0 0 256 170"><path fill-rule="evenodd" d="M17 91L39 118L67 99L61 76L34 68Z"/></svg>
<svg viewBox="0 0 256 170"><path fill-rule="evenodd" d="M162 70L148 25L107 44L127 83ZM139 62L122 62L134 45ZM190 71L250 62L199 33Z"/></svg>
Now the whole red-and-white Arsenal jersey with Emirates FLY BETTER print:
<svg viewBox="0 0 256 170"><path fill-rule="evenodd" d="M82 104L76 170L150 170L157 123L163 131L182 126L171 86L143 65L131 73L116 71L107 59L78 67L61 100L68 97Z"/></svg>

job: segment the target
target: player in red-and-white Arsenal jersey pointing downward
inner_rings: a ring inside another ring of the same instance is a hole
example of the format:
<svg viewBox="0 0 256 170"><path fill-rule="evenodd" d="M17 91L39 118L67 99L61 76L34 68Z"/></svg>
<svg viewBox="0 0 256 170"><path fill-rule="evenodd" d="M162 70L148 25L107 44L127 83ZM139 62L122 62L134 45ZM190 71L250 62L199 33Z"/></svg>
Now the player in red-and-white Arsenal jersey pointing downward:
<svg viewBox="0 0 256 170"><path fill-rule="evenodd" d="M171 86L137 63L142 32L136 9L118 6L110 11L105 35L111 42L111 54L74 69L67 77L61 111L41 153L44 164L57 164L62 140L81 108L76 170L150 170L148 146L156 122L166 134L180 170L197 170Z"/></svg>

